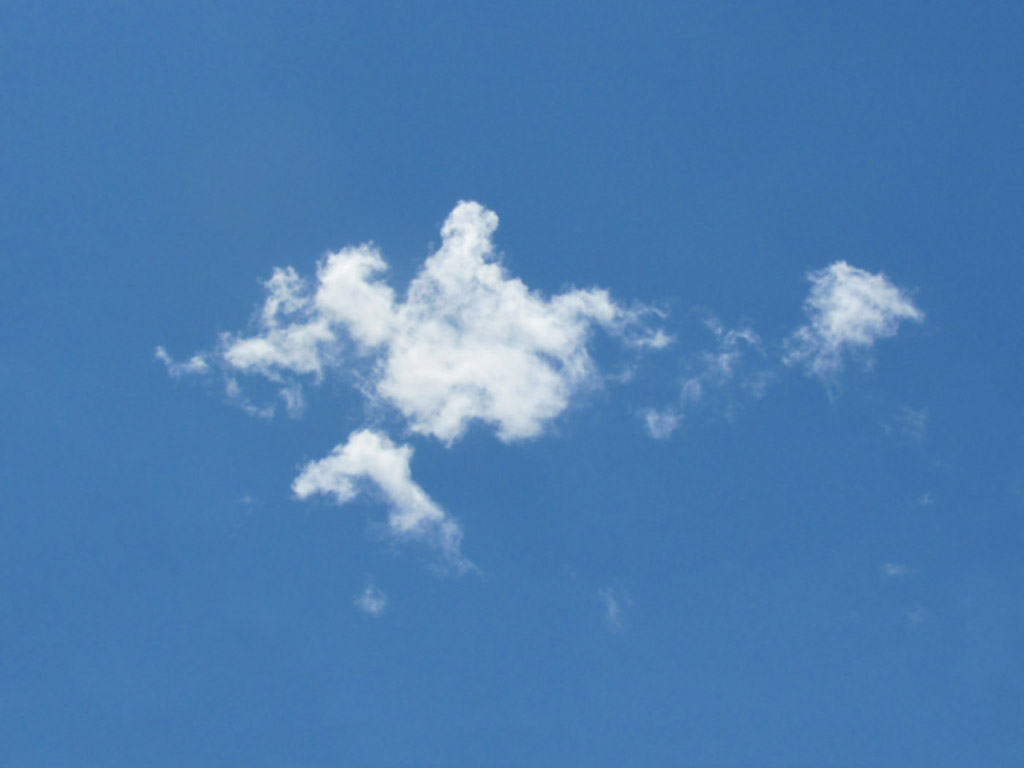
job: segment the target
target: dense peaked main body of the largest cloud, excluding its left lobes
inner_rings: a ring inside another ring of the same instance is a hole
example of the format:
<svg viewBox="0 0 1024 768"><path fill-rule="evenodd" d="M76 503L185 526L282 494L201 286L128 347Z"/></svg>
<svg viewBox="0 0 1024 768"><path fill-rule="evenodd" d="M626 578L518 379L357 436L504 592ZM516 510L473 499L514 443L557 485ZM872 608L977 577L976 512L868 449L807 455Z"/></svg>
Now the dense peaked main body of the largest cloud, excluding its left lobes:
<svg viewBox="0 0 1024 768"><path fill-rule="evenodd" d="M573 290L546 299L493 260L498 217L461 203L441 229L440 249L391 314L377 392L414 431L451 443L470 422L499 438L534 437L582 389L599 381L588 353L601 326L635 345L662 338L632 333L634 312L604 291ZM367 329L383 335L380 325Z"/></svg>

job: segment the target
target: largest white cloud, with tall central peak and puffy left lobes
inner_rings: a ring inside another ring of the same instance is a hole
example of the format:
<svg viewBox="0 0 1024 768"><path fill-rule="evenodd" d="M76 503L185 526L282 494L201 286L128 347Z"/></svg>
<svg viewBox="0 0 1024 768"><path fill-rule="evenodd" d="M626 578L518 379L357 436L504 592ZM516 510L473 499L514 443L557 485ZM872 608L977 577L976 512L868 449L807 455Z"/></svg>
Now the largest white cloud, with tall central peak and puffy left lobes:
<svg viewBox="0 0 1024 768"><path fill-rule="evenodd" d="M387 264L372 245L328 255L314 286L278 269L259 332L223 336L221 358L274 381L285 373L318 378L341 364L340 340L350 340L351 356L371 364L369 394L397 409L413 431L451 443L474 421L506 441L540 434L600 382L588 351L595 327L631 347L671 343L648 327L651 310L620 306L605 291L546 298L510 276L495 257L497 226L493 211L460 203L400 302L382 282ZM295 394L283 396L292 402Z"/></svg>

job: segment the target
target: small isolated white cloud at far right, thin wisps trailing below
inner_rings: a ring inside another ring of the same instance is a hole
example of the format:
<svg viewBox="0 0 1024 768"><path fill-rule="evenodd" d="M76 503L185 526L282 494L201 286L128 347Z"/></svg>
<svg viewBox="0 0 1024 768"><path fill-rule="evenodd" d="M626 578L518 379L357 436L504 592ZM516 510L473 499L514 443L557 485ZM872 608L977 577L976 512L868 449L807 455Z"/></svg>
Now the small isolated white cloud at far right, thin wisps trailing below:
<svg viewBox="0 0 1024 768"><path fill-rule="evenodd" d="M895 336L901 321L925 318L884 274L837 261L807 278L811 293L804 310L809 323L786 340L782 359L803 362L816 376L837 373L847 349L870 349L878 339Z"/></svg>

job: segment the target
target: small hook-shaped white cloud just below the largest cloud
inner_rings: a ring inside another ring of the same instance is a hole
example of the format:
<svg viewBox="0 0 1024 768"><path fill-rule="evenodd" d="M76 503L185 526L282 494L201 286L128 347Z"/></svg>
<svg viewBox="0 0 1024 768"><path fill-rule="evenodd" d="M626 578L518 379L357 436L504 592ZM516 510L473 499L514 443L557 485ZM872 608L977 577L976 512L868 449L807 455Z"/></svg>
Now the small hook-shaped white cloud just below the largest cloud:
<svg viewBox="0 0 1024 768"><path fill-rule="evenodd" d="M395 445L380 432L359 430L324 459L303 467L292 490L300 499L314 494L333 496L341 505L355 499L365 481L370 481L391 508L388 529L393 536L427 542L460 570L472 567L459 551L459 523L413 480L412 457L410 445Z"/></svg>

